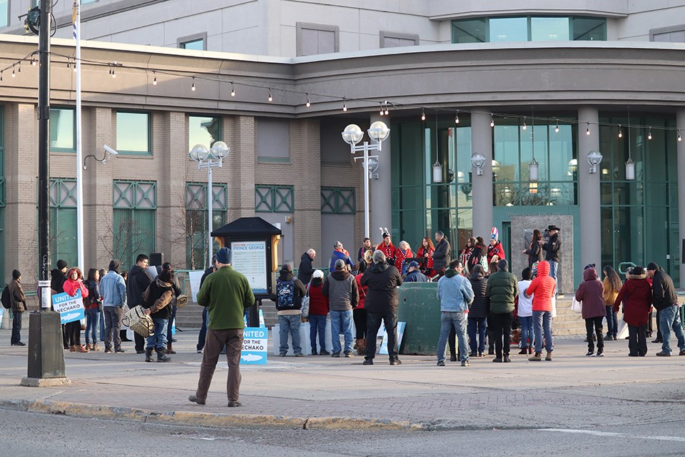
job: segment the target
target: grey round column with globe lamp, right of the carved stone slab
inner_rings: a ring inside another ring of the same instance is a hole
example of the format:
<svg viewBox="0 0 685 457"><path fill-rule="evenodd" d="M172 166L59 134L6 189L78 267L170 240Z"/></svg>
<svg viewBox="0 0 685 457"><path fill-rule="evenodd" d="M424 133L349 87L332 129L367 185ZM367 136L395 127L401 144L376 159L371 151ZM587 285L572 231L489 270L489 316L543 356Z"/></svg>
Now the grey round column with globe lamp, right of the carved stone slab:
<svg viewBox="0 0 685 457"><path fill-rule="evenodd" d="M599 112L597 108L581 108L578 110L578 203L580 205L580 264L595 263L602 268L602 245L599 236L602 233L601 212L599 210L599 176L602 165L597 167L597 173L590 174L590 164L587 161L589 151L599 151ZM590 134L585 133L589 122ZM609 151L600 151L608 154ZM602 161L608 160L607 157ZM563 236L563 235L562 235Z"/></svg>

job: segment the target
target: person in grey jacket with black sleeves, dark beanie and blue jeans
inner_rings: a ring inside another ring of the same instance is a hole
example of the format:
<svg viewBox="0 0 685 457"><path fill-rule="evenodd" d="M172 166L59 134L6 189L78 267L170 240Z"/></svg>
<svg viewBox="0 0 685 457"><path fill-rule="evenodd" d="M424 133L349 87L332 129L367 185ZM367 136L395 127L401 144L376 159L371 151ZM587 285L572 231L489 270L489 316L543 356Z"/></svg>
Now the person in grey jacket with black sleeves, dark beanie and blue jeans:
<svg viewBox="0 0 685 457"><path fill-rule="evenodd" d="M323 281L321 293L328 297L330 306L330 331L333 335L331 349L332 357L354 357L352 352L352 309L359 303L359 289L357 279L345 269L345 261L339 258L335 261L335 271L332 271ZM340 347L340 333L344 336L345 347Z"/></svg>

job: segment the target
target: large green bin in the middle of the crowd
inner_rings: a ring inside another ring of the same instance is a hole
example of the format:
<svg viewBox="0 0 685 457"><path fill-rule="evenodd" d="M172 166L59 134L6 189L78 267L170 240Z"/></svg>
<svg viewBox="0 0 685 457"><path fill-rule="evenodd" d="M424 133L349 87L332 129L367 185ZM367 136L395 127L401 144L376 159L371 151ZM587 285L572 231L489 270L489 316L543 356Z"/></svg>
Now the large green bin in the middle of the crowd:
<svg viewBox="0 0 685 457"><path fill-rule="evenodd" d="M435 356L440 338L437 283L403 283L399 291L397 321L406 322L400 353Z"/></svg>

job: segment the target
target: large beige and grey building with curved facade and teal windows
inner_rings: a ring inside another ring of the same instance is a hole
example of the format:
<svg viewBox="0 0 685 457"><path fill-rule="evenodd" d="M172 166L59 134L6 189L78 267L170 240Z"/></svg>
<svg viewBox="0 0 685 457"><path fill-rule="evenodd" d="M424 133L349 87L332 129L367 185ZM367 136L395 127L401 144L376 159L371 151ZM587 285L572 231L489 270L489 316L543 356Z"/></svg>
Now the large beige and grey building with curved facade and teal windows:
<svg viewBox="0 0 685 457"><path fill-rule="evenodd" d="M338 239L356 253L366 176L340 134L382 120L374 241L387 227L415 250L441 230L457 251L497 227L518 265L525 219L562 227L568 283L586 263L649 261L680 282L685 1L81 3L83 155L118 151L86 159L86 268L156 251L202 268L207 174L188 151L218 140L230 154L213 172L215 227L278 224L281 260L313 247L328 266ZM0 268L25 282L37 268L38 40L18 16L34 4L0 1ZM54 16L51 256L73 264L71 2Z"/></svg>

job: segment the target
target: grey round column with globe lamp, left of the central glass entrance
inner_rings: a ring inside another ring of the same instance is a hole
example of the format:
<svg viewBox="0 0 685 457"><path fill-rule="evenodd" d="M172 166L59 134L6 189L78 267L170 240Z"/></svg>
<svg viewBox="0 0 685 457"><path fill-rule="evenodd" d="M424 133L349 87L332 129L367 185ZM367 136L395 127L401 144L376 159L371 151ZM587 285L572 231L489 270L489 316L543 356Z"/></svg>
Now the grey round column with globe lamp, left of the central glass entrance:
<svg viewBox="0 0 685 457"><path fill-rule="evenodd" d="M485 156L482 176L473 171L473 234L487 243L492 230L492 127L490 115L483 110L471 114L471 152ZM453 243L456 240L452 241Z"/></svg>

